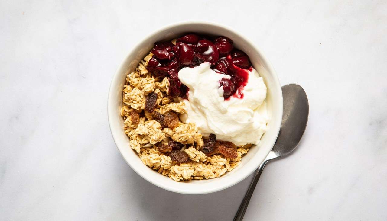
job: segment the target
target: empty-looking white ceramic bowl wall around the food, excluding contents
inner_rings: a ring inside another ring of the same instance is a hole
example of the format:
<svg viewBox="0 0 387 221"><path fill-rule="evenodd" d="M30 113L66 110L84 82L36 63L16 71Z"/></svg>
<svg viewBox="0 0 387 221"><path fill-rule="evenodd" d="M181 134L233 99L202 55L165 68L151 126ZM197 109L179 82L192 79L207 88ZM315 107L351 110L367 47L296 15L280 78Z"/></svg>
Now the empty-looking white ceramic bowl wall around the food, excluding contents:
<svg viewBox="0 0 387 221"><path fill-rule="evenodd" d="M241 164L233 171L221 177L208 180L192 180L189 182L175 182L169 177L163 176L144 165L137 153L129 147L129 138L123 130L123 118L120 116L122 106L122 89L125 85L125 73L133 71L139 61L152 49L154 42L170 40L182 36L187 32L205 33L214 36L226 36L234 41L234 46L248 54L253 67L264 78L267 86L267 108L270 121L267 123L267 131L262 136L258 146L250 148L243 156ZM108 119L111 134L121 152L123 158L141 177L163 189L183 194L205 194L216 192L231 187L255 171L270 152L277 139L281 126L283 100L281 85L276 72L262 51L246 37L228 27L209 22L183 22L173 24L153 32L139 42L122 61L113 76L108 97Z"/></svg>

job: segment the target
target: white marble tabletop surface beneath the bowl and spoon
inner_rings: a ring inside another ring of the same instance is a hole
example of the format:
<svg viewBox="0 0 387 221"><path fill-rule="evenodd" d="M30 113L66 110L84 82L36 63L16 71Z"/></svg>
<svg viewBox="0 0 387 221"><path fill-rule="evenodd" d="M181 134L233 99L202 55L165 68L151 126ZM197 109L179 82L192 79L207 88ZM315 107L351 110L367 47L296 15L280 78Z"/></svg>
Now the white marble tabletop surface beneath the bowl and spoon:
<svg viewBox="0 0 387 221"><path fill-rule="evenodd" d="M245 220L387 220L387 2L295 2L1 1L1 219L231 220L251 177L199 196L160 189L125 163L106 114L137 41L208 20L256 42L310 103Z"/></svg>

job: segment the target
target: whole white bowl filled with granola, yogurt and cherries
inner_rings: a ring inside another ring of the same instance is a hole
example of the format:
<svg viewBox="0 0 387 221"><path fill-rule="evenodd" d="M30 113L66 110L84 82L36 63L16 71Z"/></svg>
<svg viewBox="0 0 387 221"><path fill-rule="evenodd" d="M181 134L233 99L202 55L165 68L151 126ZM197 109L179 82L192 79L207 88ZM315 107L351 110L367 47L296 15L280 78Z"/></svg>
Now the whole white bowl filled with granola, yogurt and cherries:
<svg viewBox="0 0 387 221"><path fill-rule="evenodd" d="M262 51L227 27L184 22L144 38L110 85L108 119L123 158L184 194L230 187L276 141L283 100Z"/></svg>

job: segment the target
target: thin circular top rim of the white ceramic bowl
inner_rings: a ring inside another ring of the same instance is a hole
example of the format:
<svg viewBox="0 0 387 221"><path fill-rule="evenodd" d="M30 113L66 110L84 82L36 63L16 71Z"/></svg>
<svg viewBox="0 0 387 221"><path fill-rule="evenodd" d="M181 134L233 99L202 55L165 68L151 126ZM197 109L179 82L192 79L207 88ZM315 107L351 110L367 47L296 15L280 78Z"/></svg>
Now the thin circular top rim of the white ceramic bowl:
<svg viewBox="0 0 387 221"><path fill-rule="evenodd" d="M247 37L243 36L242 34L240 34L239 32L235 31L234 29L228 27L228 26L224 26L224 25L221 25L221 24L218 24L216 22L207 22L207 21L200 21L200 20L195 20L195 21L183 21L183 22L176 22L176 23L172 23L172 24L168 24L166 26L163 26L159 29L156 29L155 31L152 31L151 33L147 34L145 37L143 37L142 39L149 39L151 38L152 36L154 36L156 33L159 33L159 32L163 32L163 31L166 31L168 29L171 29L175 26L184 26L184 25L192 25L192 24L197 24L197 25L212 25L212 26L218 26L220 28L223 28L223 29L227 29L228 31L230 32L233 32L233 34L235 34L236 36L240 37L241 39L243 39L243 41L246 41L248 44L252 45L253 46L253 49L255 51L258 52L258 54L261 56L262 60L264 61L265 63L265 66L266 66L266 69L271 73L273 79L274 79L274 82L276 84L276 88L279 88L279 90L281 90L281 85L279 83L279 79L278 79L278 75L276 73L276 71L274 70L274 67L271 65L271 62L269 61L269 59L265 56L265 54L262 52L262 50L256 45L254 44L250 39L248 39ZM165 190L169 190L171 192L176 192L176 193L181 193L181 194L207 194L207 193L212 193L212 192L217 192L217 191L220 191L220 190L223 190L223 189L227 189L228 187L231 187L235 184L238 184L239 182L241 182L242 180L246 179L249 175L251 175L258 167L259 165L257 165L257 168L255 168L254 170L252 170L250 173L247 173L246 175L244 175L243 177L241 177L240 179L234 179L232 182L228 182L227 184L224 184L223 186L219 186L217 188L209 188L209 189L204 189L204 190L201 190L201 191L197 191L197 190L190 190L190 189L184 189L181 190L181 189L175 189L173 187L170 187L168 185L165 185L164 183L158 183L158 182L154 182L152 179L150 179L149 177L147 177L146 174L142 173L140 170L138 170L137 168L135 168L134 166L132 166L127 158L124 157L123 153L121 152L120 148L118 148L118 145L117 145L117 141L115 137L115 134L113 133L113 129L112 129L112 121L113 119L112 116L113 114L117 114L118 112L116 112L115 110L113 110L110 105L110 102L111 102L111 99L113 99L113 91L115 90L115 88L113 88L113 83L116 81L116 78L118 78L118 76L120 76L120 69L122 69L122 66L125 65L126 61L128 60L128 57L134 53L134 49L138 48L140 46L140 44L142 44L144 40L142 41L139 41L137 44L135 44L134 46L132 46L132 48L130 48L130 50L128 51L127 55L125 56L125 58L121 61L120 65L118 65L118 67L116 68L116 71L114 73L114 75L112 76L112 80L110 82L110 87L109 87L109 93L108 93L108 100L107 100L107 114L108 114L108 123L109 123L109 129L110 129L110 133L113 137L113 141L116 145L116 148L118 149L118 151L120 152L122 158L125 160L125 162L138 174L140 175L140 177L144 178L145 180L147 180L148 182L150 182L151 184L153 185L156 185L162 189L165 189ZM281 101L283 101L283 97L282 97L282 92L279 94L280 98L281 98ZM281 110L280 110L280 116L282 118L282 114L283 114L283 102L280 102L281 106ZM278 136L278 133L279 133L279 129L281 127L281 121L278 121L279 123L277 123L277 125L274 125L273 127L273 130L276 130L276 134ZM276 138L277 138L276 136ZM274 146L274 143L275 143L276 139L273 139L272 140L272 143L270 144L270 146ZM270 153L267 152L266 156ZM265 157L266 157L265 156Z"/></svg>

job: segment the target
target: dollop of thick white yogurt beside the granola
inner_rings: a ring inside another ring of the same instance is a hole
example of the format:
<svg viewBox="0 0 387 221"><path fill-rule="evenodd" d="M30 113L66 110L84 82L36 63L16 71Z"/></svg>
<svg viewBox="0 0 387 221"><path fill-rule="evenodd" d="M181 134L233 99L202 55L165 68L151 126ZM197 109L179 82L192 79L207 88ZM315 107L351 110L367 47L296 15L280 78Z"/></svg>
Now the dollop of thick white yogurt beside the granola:
<svg viewBox="0 0 387 221"><path fill-rule="evenodd" d="M248 71L248 70L247 70ZM224 99L219 80L231 77L215 72L210 63L194 68L182 68L178 78L188 88L187 114L180 116L184 123L194 122L204 137L216 134L221 141L235 145L258 144L269 121L265 103L266 85L255 69L248 71L243 98Z"/></svg>

